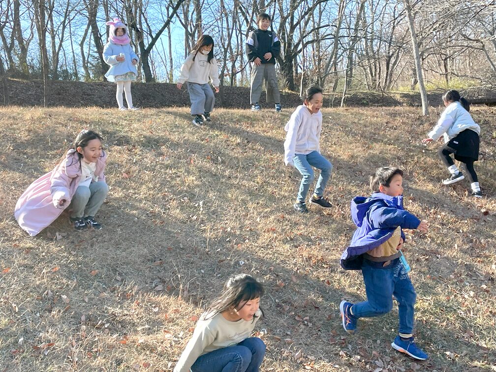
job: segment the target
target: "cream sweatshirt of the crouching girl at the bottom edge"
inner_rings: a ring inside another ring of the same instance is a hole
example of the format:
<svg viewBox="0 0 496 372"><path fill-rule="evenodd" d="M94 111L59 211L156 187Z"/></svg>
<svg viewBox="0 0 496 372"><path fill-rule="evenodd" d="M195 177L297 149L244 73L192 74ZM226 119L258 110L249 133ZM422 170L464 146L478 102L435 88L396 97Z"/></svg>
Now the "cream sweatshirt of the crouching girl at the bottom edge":
<svg viewBox="0 0 496 372"><path fill-rule="evenodd" d="M181 354L174 372L189 372L199 356L211 351L233 346L247 339L262 312L257 310L254 320L229 321L222 314L209 317L203 313L196 323L193 335ZM206 318L206 320L205 320Z"/></svg>

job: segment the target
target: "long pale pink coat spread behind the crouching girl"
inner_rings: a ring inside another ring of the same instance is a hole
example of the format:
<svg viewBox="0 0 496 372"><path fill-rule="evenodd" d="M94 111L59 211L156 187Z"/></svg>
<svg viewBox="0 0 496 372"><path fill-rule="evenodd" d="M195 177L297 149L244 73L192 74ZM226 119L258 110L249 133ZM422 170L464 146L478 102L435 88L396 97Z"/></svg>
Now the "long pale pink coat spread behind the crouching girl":
<svg viewBox="0 0 496 372"><path fill-rule="evenodd" d="M96 162L95 176L105 182L107 153ZM41 176L23 192L15 204L14 216L19 226L34 237L54 222L70 204L81 178L81 162L75 150L67 151L65 159L52 172ZM61 200L65 203L59 205Z"/></svg>

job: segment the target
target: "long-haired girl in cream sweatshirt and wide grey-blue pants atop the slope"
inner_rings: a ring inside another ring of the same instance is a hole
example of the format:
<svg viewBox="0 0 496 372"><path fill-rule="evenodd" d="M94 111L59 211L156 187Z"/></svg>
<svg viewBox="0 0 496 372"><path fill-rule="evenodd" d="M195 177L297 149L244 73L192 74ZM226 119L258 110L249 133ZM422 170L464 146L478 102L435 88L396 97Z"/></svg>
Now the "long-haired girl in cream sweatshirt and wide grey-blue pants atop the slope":
<svg viewBox="0 0 496 372"><path fill-rule="evenodd" d="M214 40L209 35L202 35L193 47L193 51L186 57L181 66L181 76L177 87L181 89L187 81L187 91L191 101L191 115L193 124L200 126L203 118L210 122L210 112L214 108L215 96L208 85L208 78L212 79L215 93L219 93L219 69L214 58Z"/></svg>

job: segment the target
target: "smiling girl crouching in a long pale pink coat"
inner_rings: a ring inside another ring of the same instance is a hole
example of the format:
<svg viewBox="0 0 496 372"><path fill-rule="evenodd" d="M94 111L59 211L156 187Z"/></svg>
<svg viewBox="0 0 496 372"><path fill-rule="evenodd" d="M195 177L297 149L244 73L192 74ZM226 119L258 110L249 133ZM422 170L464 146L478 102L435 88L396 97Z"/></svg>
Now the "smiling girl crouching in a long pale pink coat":
<svg viewBox="0 0 496 372"><path fill-rule="evenodd" d="M69 207L76 230L100 230L94 217L109 192L106 161L100 134L81 130L55 169L33 182L17 201L14 216L19 226L35 236Z"/></svg>

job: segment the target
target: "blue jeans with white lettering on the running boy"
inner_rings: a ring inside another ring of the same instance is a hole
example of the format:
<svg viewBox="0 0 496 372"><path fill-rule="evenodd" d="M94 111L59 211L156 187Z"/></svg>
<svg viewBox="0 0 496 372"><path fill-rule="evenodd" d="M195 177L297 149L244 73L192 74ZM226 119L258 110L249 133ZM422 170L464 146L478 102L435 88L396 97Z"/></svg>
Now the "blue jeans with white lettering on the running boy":
<svg viewBox="0 0 496 372"><path fill-rule="evenodd" d="M382 264L382 263L380 263ZM413 315L417 294L399 258L386 267L364 259L362 274L367 301L353 305L356 317L371 317L387 314L393 308L393 299L398 301L400 333L413 333Z"/></svg>

